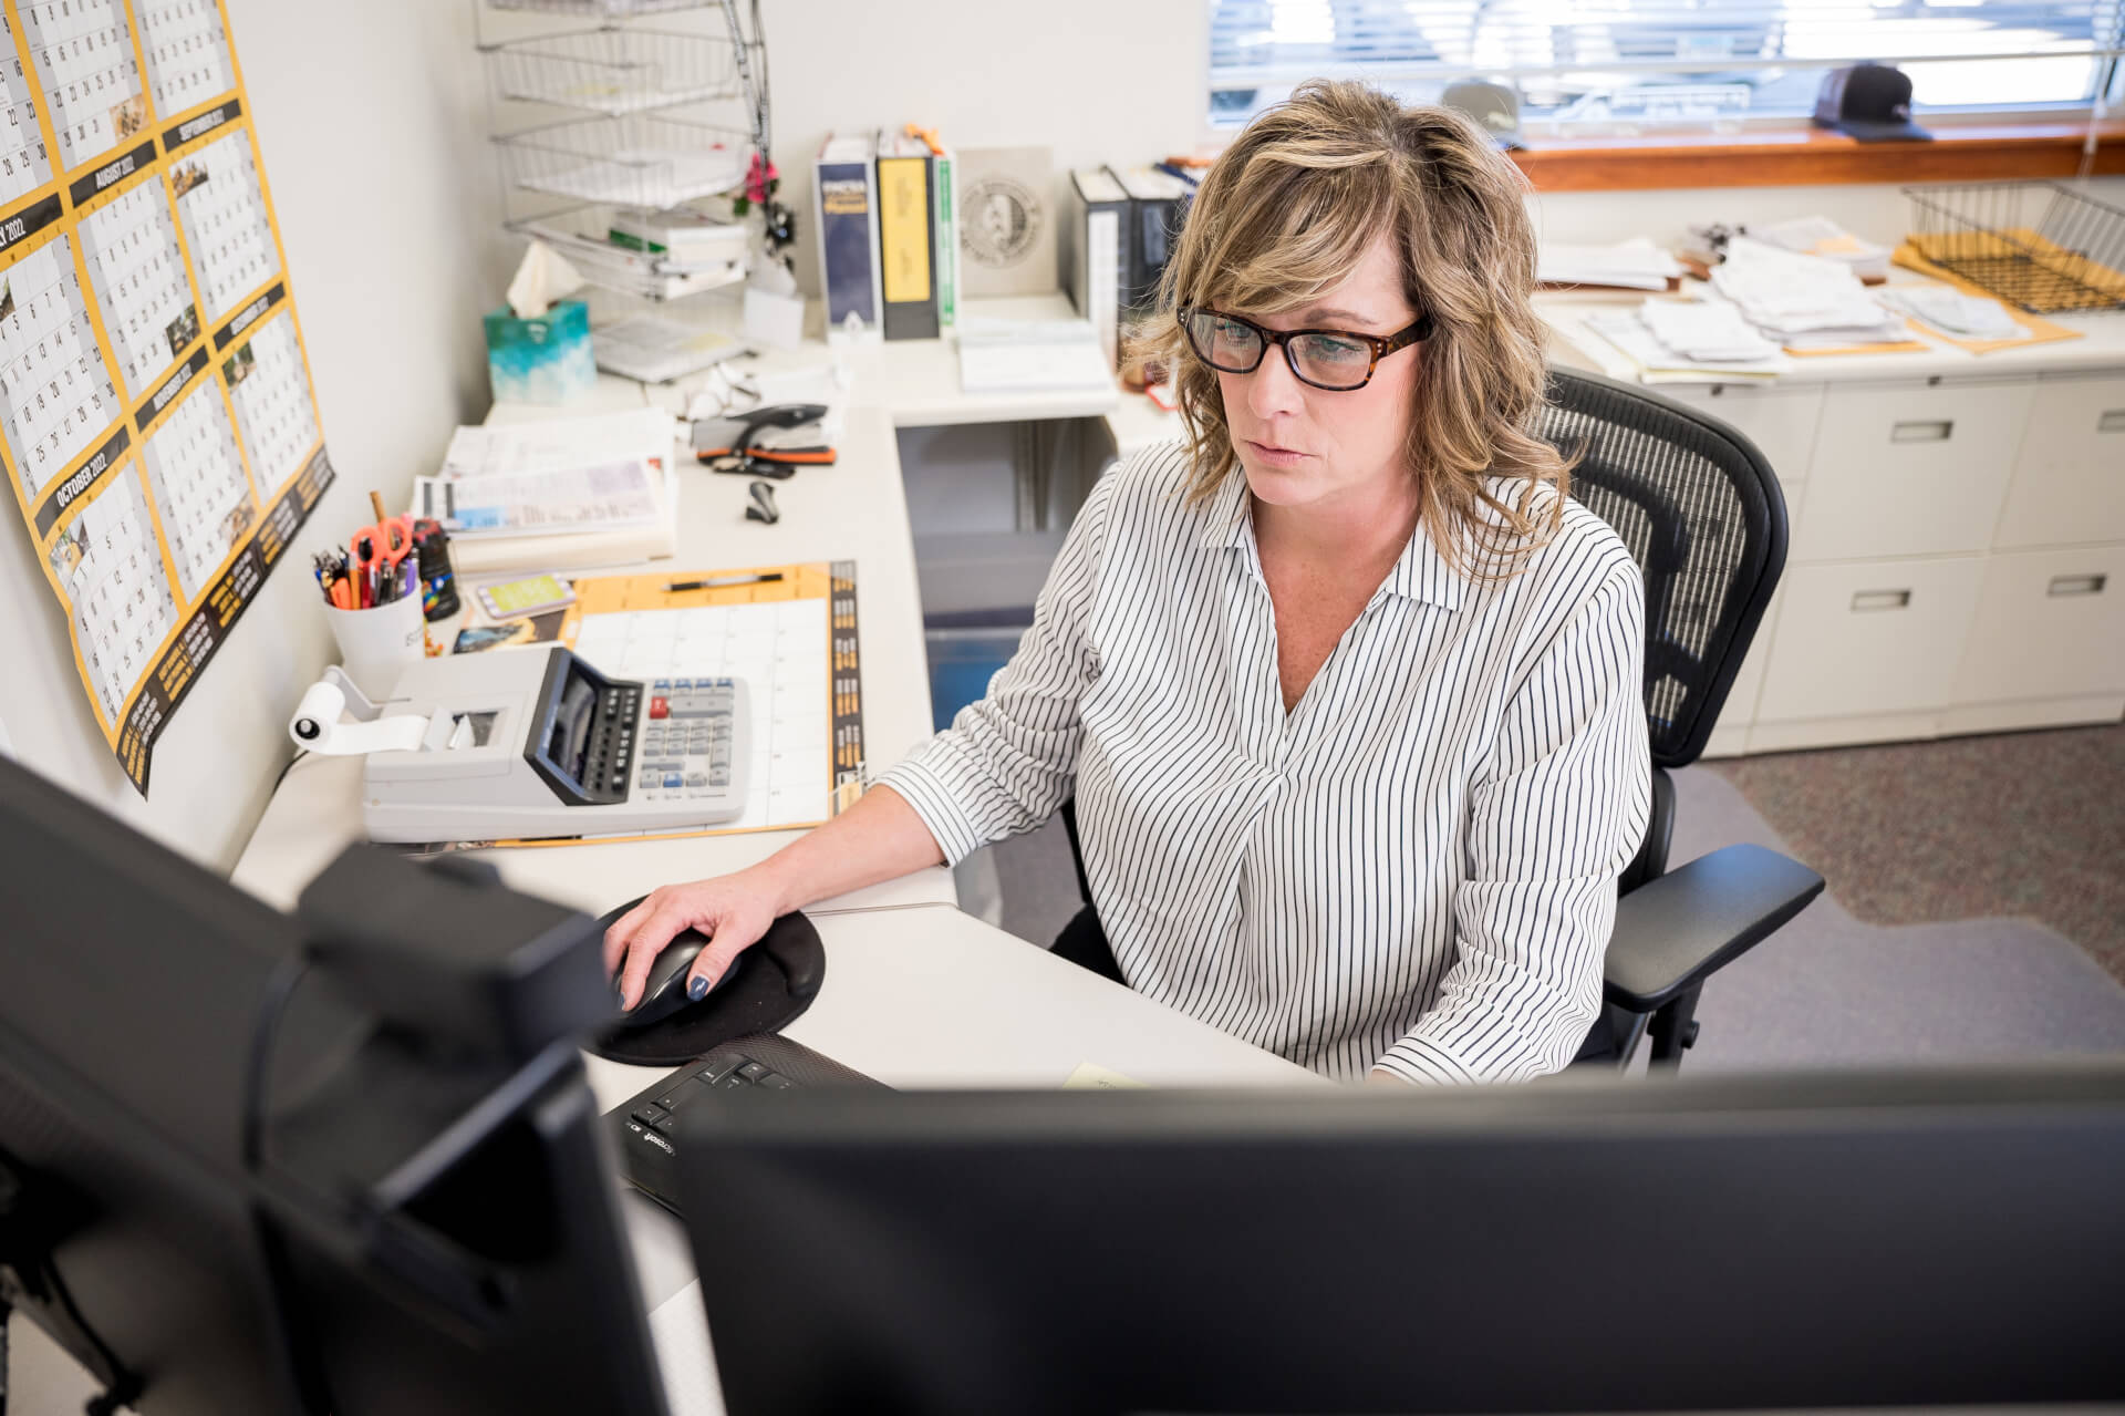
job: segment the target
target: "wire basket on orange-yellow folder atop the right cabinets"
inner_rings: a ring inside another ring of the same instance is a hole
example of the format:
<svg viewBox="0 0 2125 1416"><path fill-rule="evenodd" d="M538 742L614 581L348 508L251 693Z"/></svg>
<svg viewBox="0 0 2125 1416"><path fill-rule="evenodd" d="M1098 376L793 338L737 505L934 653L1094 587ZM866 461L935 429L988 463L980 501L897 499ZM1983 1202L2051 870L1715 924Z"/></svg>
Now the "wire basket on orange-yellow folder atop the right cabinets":
<svg viewBox="0 0 2125 1416"><path fill-rule="evenodd" d="M1927 262L2032 315L2125 310L2125 210L2063 183L1904 187Z"/></svg>

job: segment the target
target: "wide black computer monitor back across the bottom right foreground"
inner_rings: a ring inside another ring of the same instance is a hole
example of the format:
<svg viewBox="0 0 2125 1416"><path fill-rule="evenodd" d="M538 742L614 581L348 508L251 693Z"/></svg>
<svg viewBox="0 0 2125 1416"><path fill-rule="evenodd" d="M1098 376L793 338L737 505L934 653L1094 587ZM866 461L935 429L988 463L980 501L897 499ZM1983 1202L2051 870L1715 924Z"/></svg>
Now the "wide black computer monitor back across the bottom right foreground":
<svg viewBox="0 0 2125 1416"><path fill-rule="evenodd" d="M680 1142L733 1416L2125 1397L2121 1063L727 1093Z"/></svg>

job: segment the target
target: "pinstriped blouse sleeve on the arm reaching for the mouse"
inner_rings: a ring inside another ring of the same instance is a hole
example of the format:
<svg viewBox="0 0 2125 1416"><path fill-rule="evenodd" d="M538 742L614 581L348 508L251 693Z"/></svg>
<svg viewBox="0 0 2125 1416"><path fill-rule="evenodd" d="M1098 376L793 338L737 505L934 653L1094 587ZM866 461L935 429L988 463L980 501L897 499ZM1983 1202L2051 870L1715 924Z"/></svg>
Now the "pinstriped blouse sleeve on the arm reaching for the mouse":
<svg viewBox="0 0 2125 1416"><path fill-rule="evenodd" d="M1116 476L1086 498L1018 653L988 693L880 778L937 838L948 863L1048 821L1077 780L1077 704L1099 678L1092 604Z"/></svg>

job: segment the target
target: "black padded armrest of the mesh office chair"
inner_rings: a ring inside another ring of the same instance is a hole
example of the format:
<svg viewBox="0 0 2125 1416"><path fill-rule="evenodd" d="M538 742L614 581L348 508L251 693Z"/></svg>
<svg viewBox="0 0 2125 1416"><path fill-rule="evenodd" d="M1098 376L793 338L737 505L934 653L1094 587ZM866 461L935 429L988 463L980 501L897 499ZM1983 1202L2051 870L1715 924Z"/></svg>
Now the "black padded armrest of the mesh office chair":
<svg viewBox="0 0 2125 1416"><path fill-rule="evenodd" d="M1726 846L1615 904L1604 997L1653 1012L1749 953L1823 893L1823 878L1764 846Z"/></svg>

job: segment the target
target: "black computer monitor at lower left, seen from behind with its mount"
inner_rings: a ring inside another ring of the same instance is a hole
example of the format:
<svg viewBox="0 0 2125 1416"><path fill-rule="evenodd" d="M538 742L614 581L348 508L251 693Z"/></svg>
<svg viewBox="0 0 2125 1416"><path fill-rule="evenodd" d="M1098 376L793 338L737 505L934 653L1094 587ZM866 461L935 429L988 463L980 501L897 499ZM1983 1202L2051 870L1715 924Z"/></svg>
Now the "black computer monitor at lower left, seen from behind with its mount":
<svg viewBox="0 0 2125 1416"><path fill-rule="evenodd" d="M355 848L280 914L0 757L0 1274L144 1416L663 1416L593 921Z"/></svg>

